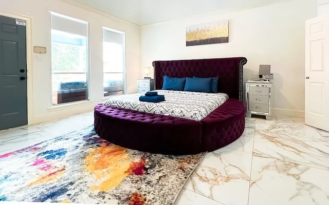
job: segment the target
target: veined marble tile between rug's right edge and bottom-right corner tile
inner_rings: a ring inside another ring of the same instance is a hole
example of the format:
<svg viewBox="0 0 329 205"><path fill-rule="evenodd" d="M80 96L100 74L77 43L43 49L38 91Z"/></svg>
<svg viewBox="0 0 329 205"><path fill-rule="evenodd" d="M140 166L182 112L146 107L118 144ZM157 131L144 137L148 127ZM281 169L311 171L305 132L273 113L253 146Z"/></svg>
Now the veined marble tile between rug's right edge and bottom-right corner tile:
<svg viewBox="0 0 329 205"><path fill-rule="evenodd" d="M251 155L229 148L208 153L185 188L224 204L247 204Z"/></svg>

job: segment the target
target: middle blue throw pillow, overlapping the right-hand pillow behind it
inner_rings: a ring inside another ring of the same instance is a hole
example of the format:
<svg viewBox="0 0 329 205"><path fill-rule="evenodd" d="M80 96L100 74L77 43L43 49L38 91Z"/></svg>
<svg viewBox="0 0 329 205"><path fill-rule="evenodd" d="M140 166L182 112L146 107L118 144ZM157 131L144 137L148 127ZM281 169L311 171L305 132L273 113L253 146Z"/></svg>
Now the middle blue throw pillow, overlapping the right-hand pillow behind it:
<svg viewBox="0 0 329 205"><path fill-rule="evenodd" d="M210 93L211 78L187 77L184 91Z"/></svg>

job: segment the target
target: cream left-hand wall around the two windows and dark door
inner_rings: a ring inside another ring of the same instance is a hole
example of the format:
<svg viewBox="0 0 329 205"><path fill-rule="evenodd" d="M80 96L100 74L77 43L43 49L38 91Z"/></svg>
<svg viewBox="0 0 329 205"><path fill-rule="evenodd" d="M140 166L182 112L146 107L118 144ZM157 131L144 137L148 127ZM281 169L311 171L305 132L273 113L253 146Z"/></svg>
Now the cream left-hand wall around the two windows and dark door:
<svg viewBox="0 0 329 205"><path fill-rule="evenodd" d="M51 37L50 12L71 16L89 22L90 40L90 88L88 103L77 105L60 105L51 108ZM67 4L59 0L2 0L0 14L19 14L31 18L31 46L45 46L46 54L42 60L36 61L30 56L27 60L32 67L28 68L28 76L32 84L30 92L29 124L49 119L60 118L93 110L103 98L103 63L102 63L102 26L126 33L126 91L137 91L137 78L140 76L140 27L119 18L95 13L83 7ZM29 37L29 36L28 36ZM28 48L29 51L32 48Z"/></svg>

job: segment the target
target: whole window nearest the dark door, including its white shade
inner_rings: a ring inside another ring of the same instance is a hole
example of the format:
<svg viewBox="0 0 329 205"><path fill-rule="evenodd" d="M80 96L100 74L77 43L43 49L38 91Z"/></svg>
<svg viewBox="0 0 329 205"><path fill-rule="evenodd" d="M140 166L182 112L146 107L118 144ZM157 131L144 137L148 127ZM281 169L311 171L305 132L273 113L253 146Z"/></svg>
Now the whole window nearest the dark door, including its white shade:
<svg viewBox="0 0 329 205"><path fill-rule="evenodd" d="M51 13L52 104L88 99L88 24Z"/></svg>

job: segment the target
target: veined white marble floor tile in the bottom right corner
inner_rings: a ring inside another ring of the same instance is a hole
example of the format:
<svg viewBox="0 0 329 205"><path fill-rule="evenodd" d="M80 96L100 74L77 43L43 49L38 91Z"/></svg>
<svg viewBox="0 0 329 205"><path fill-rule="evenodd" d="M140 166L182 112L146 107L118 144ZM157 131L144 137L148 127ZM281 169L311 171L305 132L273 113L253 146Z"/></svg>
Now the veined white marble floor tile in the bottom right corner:
<svg viewBox="0 0 329 205"><path fill-rule="evenodd" d="M328 204L328 171L256 156L252 170L249 204Z"/></svg>

